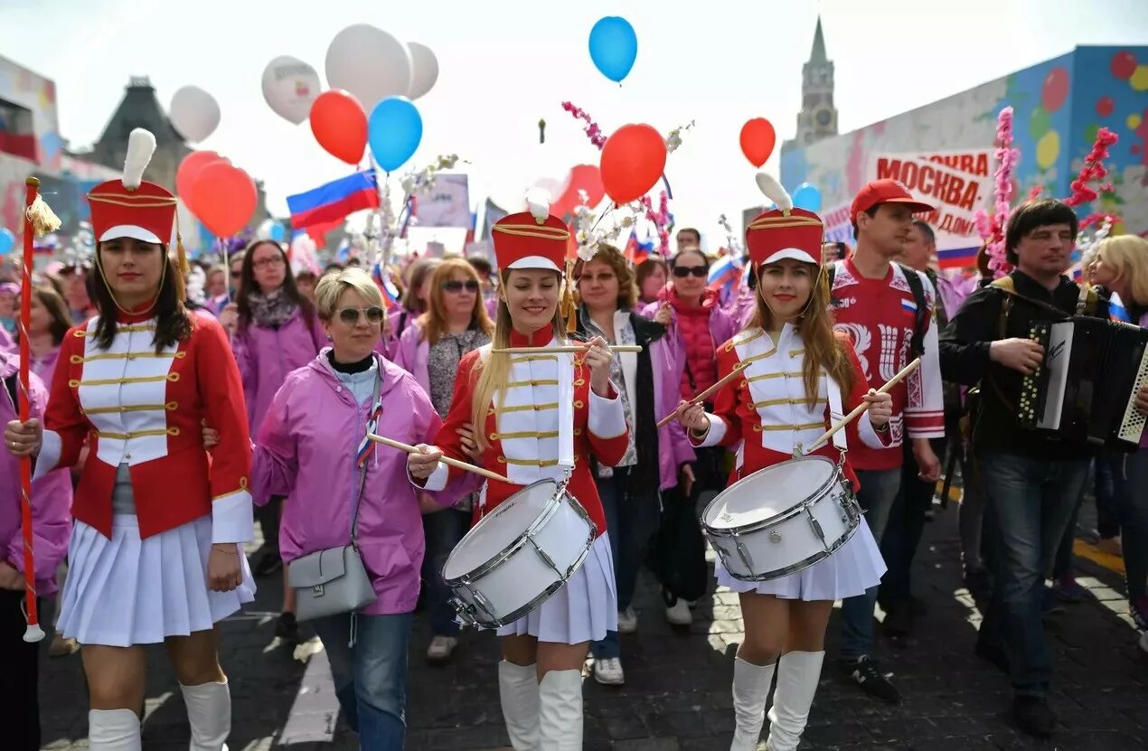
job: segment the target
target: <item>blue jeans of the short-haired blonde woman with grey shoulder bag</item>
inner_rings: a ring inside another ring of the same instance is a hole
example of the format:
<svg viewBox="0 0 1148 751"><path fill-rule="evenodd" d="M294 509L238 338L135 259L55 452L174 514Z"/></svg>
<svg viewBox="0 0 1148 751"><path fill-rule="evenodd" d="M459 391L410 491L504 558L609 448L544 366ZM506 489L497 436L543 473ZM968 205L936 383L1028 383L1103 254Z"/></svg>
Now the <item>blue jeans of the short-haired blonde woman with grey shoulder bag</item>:
<svg viewBox="0 0 1148 751"><path fill-rule="evenodd" d="M335 695L364 751L402 751L406 742L406 645L411 613L318 618L315 630L331 661Z"/></svg>

